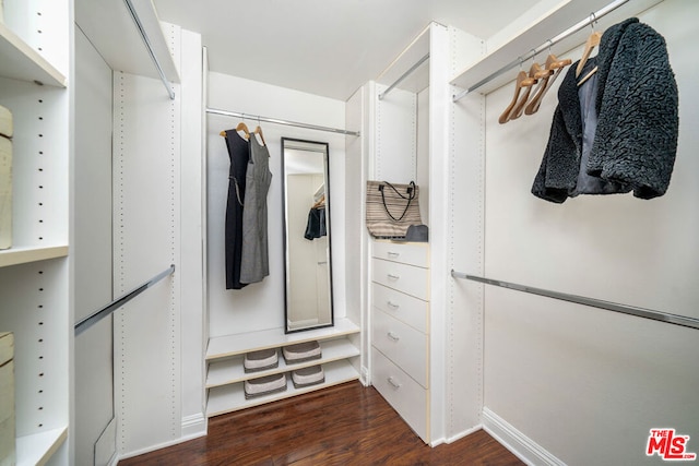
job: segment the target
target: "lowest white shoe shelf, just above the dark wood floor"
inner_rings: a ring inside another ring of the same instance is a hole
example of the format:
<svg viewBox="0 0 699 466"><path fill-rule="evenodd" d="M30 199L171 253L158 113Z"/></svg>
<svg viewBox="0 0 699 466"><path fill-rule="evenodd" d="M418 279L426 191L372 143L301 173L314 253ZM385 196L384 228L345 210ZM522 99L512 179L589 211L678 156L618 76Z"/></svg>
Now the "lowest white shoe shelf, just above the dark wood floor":
<svg viewBox="0 0 699 466"><path fill-rule="evenodd" d="M354 367L345 360L323 365L323 372L325 375L324 383L296 389L294 387L291 377L287 377L285 392L273 393L251 399L245 398L242 383L211 389L209 391L209 402L206 404L206 417L218 416L252 406L263 405L277 399L289 398L292 396L359 379L359 374Z"/></svg>

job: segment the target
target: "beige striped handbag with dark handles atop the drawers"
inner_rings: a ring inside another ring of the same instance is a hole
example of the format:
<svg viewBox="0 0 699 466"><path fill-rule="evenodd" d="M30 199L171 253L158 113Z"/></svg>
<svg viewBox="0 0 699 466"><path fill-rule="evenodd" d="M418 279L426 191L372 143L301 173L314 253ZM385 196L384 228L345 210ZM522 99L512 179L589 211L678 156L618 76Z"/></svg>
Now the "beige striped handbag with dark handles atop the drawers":
<svg viewBox="0 0 699 466"><path fill-rule="evenodd" d="M405 239L411 225L422 225L419 189L388 181L367 181L367 229L375 238Z"/></svg>

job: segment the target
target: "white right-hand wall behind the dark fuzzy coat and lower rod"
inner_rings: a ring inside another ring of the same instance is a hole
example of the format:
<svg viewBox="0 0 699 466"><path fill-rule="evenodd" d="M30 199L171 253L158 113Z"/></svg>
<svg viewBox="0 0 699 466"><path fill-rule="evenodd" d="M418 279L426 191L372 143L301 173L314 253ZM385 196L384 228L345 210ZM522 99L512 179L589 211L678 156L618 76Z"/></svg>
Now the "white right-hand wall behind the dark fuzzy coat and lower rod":
<svg viewBox="0 0 699 466"><path fill-rule="evenodd" d="M680 95L677 160L663 198L530 194L555 93L535 116L497 118L508 84L486 99L485 276L699 316L697 2L639 15L667 40ZM577 59L580 49L559 56ZM560 80L559 80L560 81ZM688 434L699 451L696 330L485 287L485 407L570 465L659 464L651 428ZM487 423L487 419L486 419ZM525 442L526 443L526 442Z"/></svg>

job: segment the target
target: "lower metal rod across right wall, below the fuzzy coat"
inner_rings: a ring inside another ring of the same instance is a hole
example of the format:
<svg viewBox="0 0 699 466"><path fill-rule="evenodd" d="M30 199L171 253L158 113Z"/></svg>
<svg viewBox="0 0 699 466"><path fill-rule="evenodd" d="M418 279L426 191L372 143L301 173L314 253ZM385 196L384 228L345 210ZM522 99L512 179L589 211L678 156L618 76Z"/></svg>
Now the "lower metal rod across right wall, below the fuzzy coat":
<svg viewBox="0 0 699 466"><path fill-rule="evenodd" d="M552 291L548 289L534 288L531 286L518 285L514 283L502 282L498 279L484 278L476 275L469 275L463 272L455 272L453 270L451 271L451 276L454 278L470 279L487 285L513 289L516 291L530 292L532 295L544 296L546 298L559 299L562 301L574 302L577 304L590 306L593 308L605 309L607 311L636 315L637 318L652 319L654 321L664 322L667 324L682 325L689 328L699 330L699 319L688 318L685 315L671 314L667 312L653 311L651 309L636 308L625 304L617 304L615 302L602 301L600 299L587 298L584 296L568 295L567 292Z"/></svg>

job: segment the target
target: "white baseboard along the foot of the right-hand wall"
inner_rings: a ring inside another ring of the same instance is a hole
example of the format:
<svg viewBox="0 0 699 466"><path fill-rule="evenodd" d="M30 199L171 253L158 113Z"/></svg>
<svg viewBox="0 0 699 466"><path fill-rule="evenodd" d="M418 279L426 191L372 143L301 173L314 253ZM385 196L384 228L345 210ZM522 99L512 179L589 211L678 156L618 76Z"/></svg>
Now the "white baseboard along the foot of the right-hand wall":
<svg viewBox="0 0 699 466"><path fill-rule="evenodd" d="M566 466L529 437L517 430L487 407L483 408L483 430L521 461L532 466Z"/></svg>

